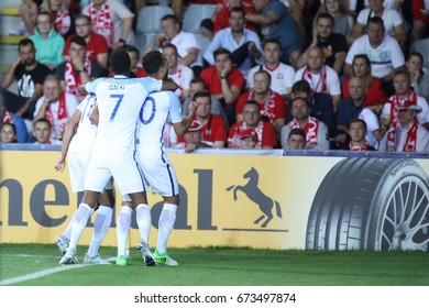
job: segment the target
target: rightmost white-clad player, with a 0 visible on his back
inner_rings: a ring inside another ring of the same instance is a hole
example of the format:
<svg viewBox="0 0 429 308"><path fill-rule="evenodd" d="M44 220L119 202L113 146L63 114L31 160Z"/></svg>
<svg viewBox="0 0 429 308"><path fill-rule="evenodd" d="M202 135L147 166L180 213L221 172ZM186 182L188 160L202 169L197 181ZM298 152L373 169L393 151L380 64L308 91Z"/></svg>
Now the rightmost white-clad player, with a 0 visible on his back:
<svg viewBox="0 0 429 308"><path fill-rule="evenodd" d="M167 61L163 55L154 54L150 65L144 68L150 77L163 79L165 76L162 66ZM158 239L156 250L153 253L156 264L178 265L167 254L167 242L176 221L176 211L180 199L176 173L165 154L163 141L165 122L169 116L176 134L182 136L193 123L197 108L198 105L191 101L189 116L183 118L178 97L172 91L164 91L150 94L140 111L136 124L139 166L152 187L152 191L164 198L164 207L158 221ZM138 245L140 249L148 241L151 210L146 205L139 206L136 216L144 217L143 221L145 222L145 228L140 228L140 231L144 231L140 233L141 243Z"/></svg>

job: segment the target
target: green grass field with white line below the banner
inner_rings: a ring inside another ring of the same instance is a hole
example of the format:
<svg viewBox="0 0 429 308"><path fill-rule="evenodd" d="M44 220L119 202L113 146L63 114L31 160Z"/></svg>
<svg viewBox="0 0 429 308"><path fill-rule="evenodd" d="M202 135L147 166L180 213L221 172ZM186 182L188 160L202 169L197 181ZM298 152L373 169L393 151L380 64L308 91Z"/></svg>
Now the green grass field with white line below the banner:
<svg viewBox="0 0 429 308"><path fill-rule="evenodd" d="M79 246L79 262L86 250ZM177 267L145 267L136 250L128 266L113 265L114 248L101 248L100 254L112 265L59 266L54 244L0 244L0 285L429 286L424 252L170 249Z"/></svg>

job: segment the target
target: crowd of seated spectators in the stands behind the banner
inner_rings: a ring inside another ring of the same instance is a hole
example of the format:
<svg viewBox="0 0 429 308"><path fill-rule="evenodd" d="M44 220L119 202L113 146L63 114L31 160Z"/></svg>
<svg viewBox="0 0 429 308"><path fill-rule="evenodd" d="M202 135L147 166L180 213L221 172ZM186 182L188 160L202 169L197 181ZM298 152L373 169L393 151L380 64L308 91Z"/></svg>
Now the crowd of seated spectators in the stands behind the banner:
<svg viewBox="0 0 429 308"><path fill-rule="evenodd" d="M162 35L139 48L139 12L166 3ZM216 6L200 25L206 47L182 29L193 4ZM111 76L108 55L124 48L132 77L160 50L183 114L199 105L185 138L167 123L166 146L429 152L428 0L23 0L20 10L11 34L28 37L1 84L1 142L61 143L80 86Z"/></svg>

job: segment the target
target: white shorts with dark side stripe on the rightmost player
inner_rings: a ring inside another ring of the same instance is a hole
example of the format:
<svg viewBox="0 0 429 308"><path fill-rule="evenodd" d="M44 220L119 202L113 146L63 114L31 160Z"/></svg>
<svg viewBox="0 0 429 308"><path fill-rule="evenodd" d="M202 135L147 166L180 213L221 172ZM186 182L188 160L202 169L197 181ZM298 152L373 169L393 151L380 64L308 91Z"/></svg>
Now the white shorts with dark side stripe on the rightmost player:
<svg viewBox="0 0 429 308"><path fill-rule="evenodd" d="M141 172L152 187L153 193L164 197L178 195L176 172L165 153L138 145L138 161Z"/></svg>

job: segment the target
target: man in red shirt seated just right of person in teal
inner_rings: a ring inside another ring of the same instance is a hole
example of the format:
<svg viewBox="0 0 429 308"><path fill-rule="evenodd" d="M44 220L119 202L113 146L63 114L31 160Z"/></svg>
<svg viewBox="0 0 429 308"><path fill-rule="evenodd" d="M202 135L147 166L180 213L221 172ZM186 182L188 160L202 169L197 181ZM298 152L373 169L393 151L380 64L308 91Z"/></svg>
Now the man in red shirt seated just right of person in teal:
<svg viewBox="0 0 429 308"><path fill-rule="evenodd" d="M90 61L98 62L98 64L107 68L108 65L108 45L106 38L100 34L91 32L91 21L87 15L79 15L75 21L76 34L68 36L63 51L64 61L69 59L68 48L70 40L74 36L80 36L87 42L87 57Z"/></svg>

